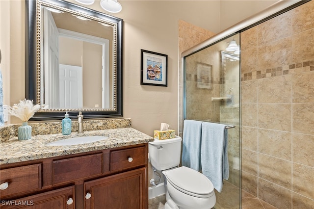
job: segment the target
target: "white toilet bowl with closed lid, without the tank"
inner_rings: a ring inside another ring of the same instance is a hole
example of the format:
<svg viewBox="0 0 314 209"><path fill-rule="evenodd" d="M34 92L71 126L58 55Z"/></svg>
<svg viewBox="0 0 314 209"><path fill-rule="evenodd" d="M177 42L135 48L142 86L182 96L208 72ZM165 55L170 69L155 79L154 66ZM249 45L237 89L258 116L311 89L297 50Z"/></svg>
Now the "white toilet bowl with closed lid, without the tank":
<svg viewBox="0 0 314 209"><path fill-rule="evenodd" d="M214 207L216 203L214 187L210 180L200 172L182 166L162 173L167 180L169 197L180 209Z"/></svg>

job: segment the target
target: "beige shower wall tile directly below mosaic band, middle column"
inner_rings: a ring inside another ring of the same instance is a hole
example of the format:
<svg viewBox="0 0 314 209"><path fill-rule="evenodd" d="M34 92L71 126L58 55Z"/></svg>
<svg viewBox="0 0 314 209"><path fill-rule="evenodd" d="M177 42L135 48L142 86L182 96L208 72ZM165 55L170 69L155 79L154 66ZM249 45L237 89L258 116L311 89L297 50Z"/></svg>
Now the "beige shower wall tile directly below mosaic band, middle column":
<svg viewBox="0 0 314 209"><path fill-rule="evenodd" d="M259 103L291 103L291 75L258 79Z"/></svg>

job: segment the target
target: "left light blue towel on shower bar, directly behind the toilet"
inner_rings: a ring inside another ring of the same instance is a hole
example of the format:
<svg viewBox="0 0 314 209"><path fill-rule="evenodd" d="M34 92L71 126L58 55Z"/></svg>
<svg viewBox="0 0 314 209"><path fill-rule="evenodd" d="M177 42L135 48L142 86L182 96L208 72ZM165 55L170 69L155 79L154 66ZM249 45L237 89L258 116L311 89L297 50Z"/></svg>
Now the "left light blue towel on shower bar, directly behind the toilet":
<svg viewBox="0 0 314 209"><path fill-rule="evenodd" d="M201 135L201 121L184 120L182 165L197 171L201 170Z"/></svg>

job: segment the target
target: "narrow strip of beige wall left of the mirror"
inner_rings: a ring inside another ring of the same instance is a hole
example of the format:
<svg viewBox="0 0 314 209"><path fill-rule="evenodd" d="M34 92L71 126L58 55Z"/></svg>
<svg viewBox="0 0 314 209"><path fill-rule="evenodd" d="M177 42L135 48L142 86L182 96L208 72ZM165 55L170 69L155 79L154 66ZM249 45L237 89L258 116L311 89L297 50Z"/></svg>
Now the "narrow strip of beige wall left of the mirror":
<svg viewBox="0 0 314 209"><path fill-rule="evenodd" d="M0 0L0 48L2 52L3 104L13 105L25 98L24 3ZM6 124L21 123L12 117Z"/></svg>

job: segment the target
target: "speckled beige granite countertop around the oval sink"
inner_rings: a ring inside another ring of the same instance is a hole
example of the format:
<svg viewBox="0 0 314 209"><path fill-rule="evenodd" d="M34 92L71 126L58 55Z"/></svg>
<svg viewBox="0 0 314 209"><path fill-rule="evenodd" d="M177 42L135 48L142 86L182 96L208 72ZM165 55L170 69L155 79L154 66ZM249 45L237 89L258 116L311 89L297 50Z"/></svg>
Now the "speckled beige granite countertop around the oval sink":
<svg viewBox="0 0 314 209"><path fill-rule="evenodd" d="M108 138L97 142L70 146L47 145L56 140L95 135L107 136ZM142 144L150 141L154 141L154 138L133 128L84 131L84 133L79 134L72 132L70 135L62 135L61 133L35 135L29 140L18 140L17 137L13 137L0 144L0 165Z"/></svg>

